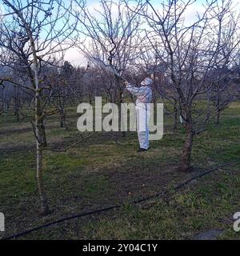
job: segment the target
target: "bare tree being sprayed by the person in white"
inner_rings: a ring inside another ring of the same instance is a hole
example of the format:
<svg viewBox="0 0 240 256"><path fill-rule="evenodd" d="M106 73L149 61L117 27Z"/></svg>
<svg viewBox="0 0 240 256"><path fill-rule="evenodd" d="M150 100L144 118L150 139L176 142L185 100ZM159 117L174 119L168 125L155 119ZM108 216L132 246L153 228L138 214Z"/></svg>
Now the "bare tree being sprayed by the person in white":
<svg viewBox="0 0 240 256"><path fill-rule="evenodd" d="M90 62L106 69L107 77L114 75L114 83L110 78L106 90L112 96L116 90L116 97L111 97L111 100L117 100L121 116L122 75L138 54L138 15L130 13L120 0L100 0L98 10L83 9L81 2L74 2L82 11L82 14L78 11L72 13L81 25L78 32L86 36L85 43L78 47Z"/></svg>

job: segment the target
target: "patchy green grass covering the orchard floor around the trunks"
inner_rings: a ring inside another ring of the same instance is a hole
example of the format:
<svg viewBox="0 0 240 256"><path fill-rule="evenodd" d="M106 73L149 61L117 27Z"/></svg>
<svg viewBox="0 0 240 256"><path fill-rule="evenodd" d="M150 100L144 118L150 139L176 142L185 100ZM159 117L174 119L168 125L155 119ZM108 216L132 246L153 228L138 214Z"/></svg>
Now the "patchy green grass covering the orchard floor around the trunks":
<svg viewBox="0 0 240 256"><path fill-rule="evenodd" d="M70 130L57 117L46 122L48 143L64 148L78 140L75 108L68 110ZM77 218L38 230L20 239L192 239L207 230L221 230L218 239L239 239L233 215L240 211L240 165L174 186L211 167L240 162L240 103L222 113L219 126L210 125L194 139L194 172L178 173L184 131L173 132L165 117L164 136L138 154L137 134L116 143L109 134L94 134L67 152L46 151L44 180L51 214L38 215L34 135L28 120L0 116L0 212L9 236L72 214L123 204L117 210ZM140 204L134 200L161 191L164 197Z"/></svg>

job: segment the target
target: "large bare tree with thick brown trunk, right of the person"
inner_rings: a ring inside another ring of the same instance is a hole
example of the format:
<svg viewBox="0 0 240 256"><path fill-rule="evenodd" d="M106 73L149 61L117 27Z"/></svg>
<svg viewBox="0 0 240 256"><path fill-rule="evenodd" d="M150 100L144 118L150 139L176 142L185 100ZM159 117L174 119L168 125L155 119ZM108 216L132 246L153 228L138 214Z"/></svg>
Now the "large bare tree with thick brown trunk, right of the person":
<svg viewBox="0 0 240 256"><path fill-rule="evenodd" d="M132 2L126 1L126 5L136 13ZM189 24L185 13L194 2L166 1L157 8L150 1L134 1L135 6L141 6L138 14L148 23L148 43L159 63L167 65L166 86L158 88L158 92L176 108L186 130L178 170L192 169L194 136L205 130L221 104L210 104L208 94L211 91L211 96L214 93L218 97L220 91L229 88L225 82L221 90L213 90L234 72L239 52L239 17L231 1L206 1L202 13ZM228 70L220 78L215 71L219 65ZM199 101L201 97L206 102Z"/></svg>

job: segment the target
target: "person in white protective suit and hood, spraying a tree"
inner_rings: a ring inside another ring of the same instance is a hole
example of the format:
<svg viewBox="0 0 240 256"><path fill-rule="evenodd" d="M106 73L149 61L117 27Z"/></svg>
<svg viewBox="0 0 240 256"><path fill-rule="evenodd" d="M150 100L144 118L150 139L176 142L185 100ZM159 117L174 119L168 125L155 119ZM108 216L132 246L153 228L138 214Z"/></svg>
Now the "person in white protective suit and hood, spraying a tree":
<svg viewBox="0 0 240 256"><path fill-rule="evenodd" d="M126 90L137 97L136 114L138 141L140 145L138 152L144 152L149 149L148 122L150 120L150 106L148 103L150 103L152 100L152 84L153 80L151 78L145 78L141 82L141 86L132 86L129 82L124 82Z"/></svg>

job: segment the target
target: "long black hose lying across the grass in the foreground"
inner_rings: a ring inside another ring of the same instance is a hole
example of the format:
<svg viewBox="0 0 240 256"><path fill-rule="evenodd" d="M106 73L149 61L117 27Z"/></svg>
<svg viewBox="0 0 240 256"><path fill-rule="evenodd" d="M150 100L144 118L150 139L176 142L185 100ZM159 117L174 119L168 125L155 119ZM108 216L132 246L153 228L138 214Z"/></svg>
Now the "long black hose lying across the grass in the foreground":
<svg viewBox="0 0 240 256"><path fill-rule="evenodd" d="M186 182L182 182L181 184L179 184L178 186L175 186L174 187L174 191L176 190L179 190L181 189L183 186L186 186L187 184L189 184L190 182L194 181L195 179L197 178L201 178L203 176L205 176L206 174L210 174L212 172L214 172L215 170L218 170L222 167L226 167L226 166L237 166L239 165L240 162L228 162L228 163L225 163L225 164L222 164L221 166L217 166L217 167L214 167L210 170L207 170L206 172L202 173L202 174L198 174L196 176L194 176L193 178L190 178L188 180L186 180ZM132 202L132 204L138 204L140 202L145 202L145 201L148 201L150 199L153 199L153 198L157 198L159 196L164 196L168 193L169 191L166 190L162 193L157 193L157 194L153 194L149 197L146 197L146 198L141 198L141 199L138 199L138 200L135 200ZM88 216L88 215L93 215L93 214L98 214L98 213L101 213L101 212L104 212L104 211L108 211L108 210L113 210L113 209L118 209L120 207L122 207L124 204L119 204L119 205L115 205L115 206L109 206L109 207L106 207L106 208L102 208L102 209L99 209L99 210L93 210L93 211L89 211L89 212L86 212L86 213L82 213L82 214L75 214L75 215L72 215L72 216L69 216L69 217L66 217L66 218L60 218L54 222L48 222L44 225L41 225L41 226L37 226L33 229L30 229L30 230L26 230L26 231L23 231L22 233L18 233L18 234L14 234L14 235L11 235L10 237L7 237L7 238L2 238L0 240L10 240L10 239L13 239L13 238L20 238L20 237L24 237L26 236L26 234L30 234L34 231L37 231L37 230L41 230L42 228L45 228L45 227L48 227L48 226L53 226L55 224L58 224L58 223L61 223L61 222L66 222L70 219L74 219L74 218L82 218L84 216Z"/></svg>

